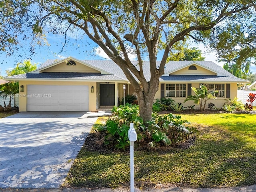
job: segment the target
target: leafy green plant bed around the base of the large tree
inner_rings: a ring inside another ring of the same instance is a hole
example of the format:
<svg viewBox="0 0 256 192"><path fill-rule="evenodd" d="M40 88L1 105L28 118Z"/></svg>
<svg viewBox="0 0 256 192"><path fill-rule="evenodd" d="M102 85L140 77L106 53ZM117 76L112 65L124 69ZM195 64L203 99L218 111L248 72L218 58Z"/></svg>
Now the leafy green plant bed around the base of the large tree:
<svg viewBox="0 0 256 192"><path fill-rule="evenodd" d="M101 136L98 144L125 150L130 144L128 130L131 122L137 133L136 144L150 150L156 150L160 146L175 146L194 135L194 130L190 131L184 125L188 121L173 114L152 114L152 120L146 126L139 116L138 105L126 104L125 107L115 106L106 124L98 126L97 131Z"/></svg>

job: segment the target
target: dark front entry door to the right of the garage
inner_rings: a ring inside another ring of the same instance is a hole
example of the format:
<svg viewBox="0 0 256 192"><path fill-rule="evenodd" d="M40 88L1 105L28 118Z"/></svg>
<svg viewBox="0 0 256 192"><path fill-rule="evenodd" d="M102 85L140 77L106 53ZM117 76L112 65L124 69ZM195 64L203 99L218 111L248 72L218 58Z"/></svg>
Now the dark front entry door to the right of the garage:
<svg viewBox="0 0 256 192"><path fill-rule="evenodd" d="M100 106L115 105L115 84L100 84Z"/></svg>

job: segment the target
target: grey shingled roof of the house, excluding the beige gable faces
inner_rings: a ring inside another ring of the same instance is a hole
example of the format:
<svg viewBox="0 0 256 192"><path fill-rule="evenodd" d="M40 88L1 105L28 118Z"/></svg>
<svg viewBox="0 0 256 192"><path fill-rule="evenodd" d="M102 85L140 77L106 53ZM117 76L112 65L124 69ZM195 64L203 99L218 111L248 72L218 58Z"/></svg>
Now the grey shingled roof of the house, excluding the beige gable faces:
<svg viewBox="0 0 256 192"><path fill-rule="evenodd" d="M51 64L58 62L58 60L47 60L41 64L38 69L50 66ZM8 79L16 78L52 78L52 79L70 79L70 80L127 80L122 69L115 64L112 60L81 60L85 64L94 66L102 71L108 72L111 75L103 75L100 73L72 73L72 72L43 72L39 74L21 74L8 77ZM217 75L169 75L160 77L160 81L212 81L212 82L247 82L247 80L237 78L218 66L212 61L170 61L165 65L165 72L172 73L173 71L180 70L188 64L199 64L203 68L210 71L214 71ZM132 64L138 68L138 61L132 61ZM156 65L160 65L160 61L156 62ZM37 70L38 70L37 69ZM146 80L150 80L150 62L143 62L144 76Z"/></svg>

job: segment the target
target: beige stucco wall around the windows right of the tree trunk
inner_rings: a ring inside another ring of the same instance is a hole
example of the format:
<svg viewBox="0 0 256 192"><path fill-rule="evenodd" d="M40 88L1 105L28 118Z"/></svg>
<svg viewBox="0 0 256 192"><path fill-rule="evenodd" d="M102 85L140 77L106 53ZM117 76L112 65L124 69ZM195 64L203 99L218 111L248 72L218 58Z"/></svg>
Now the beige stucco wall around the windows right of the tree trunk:
<svg viewBox="0 0 256 192"><path fill-rule="evenodd" d="M180 82L180 83L184 83L184 82ZM218 82L218 83L220 83L220 82ZM200 85L200 83L192 83L192 87L199 88L199 85ZM188 84L186 84L186 87L187 86L188 86ZM225 91L226 91L226 83L225 83ZM186 94L188 94L187 91L186 91ZM194 94L193 91L192 91L192 94ZM234 99L235 97L237 97L237 86L236 86L236 83L230 83L230 98ZM156 92L156 96L154 98L155 99L154 101L156 101L156 99L160 99L160 98L161 98L161 87L159 85L158 92ZM175 98L175 97L172 97L172 99L174 99L175 102L181 102L185 107L186 106L190 106L190 105L195 105L193 103L193 101L187 101L187 102L184 103L184 100L186 98ZM226 99L227 98L217 98L215 100L214 99L210 99L210 100L208 100L207 105L208 105L208 103L214 103L217 108L221 108L222 105L226 102ZM206 108L207 108L207 105L206 105ZM198 109L198 108L199 108L199 105L196 105L195 109Z"/></svg>

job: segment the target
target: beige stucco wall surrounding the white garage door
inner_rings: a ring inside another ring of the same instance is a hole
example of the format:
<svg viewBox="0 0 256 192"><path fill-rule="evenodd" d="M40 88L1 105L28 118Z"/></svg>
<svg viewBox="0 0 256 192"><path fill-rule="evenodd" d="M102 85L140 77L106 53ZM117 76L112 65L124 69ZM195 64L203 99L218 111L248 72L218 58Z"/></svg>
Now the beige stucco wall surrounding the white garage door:
<svg viewBox="0 0 256 192"><path fill-rule="evenodd" d="M89 111L96 111L96 82L69 82L69 81L20 81L20 86L24 86L24 92L20 92L19 104L20 112L27 111L27 85L88 85L89 87ZM91 86L94 86L94 92L91 92Z"/></svg>

